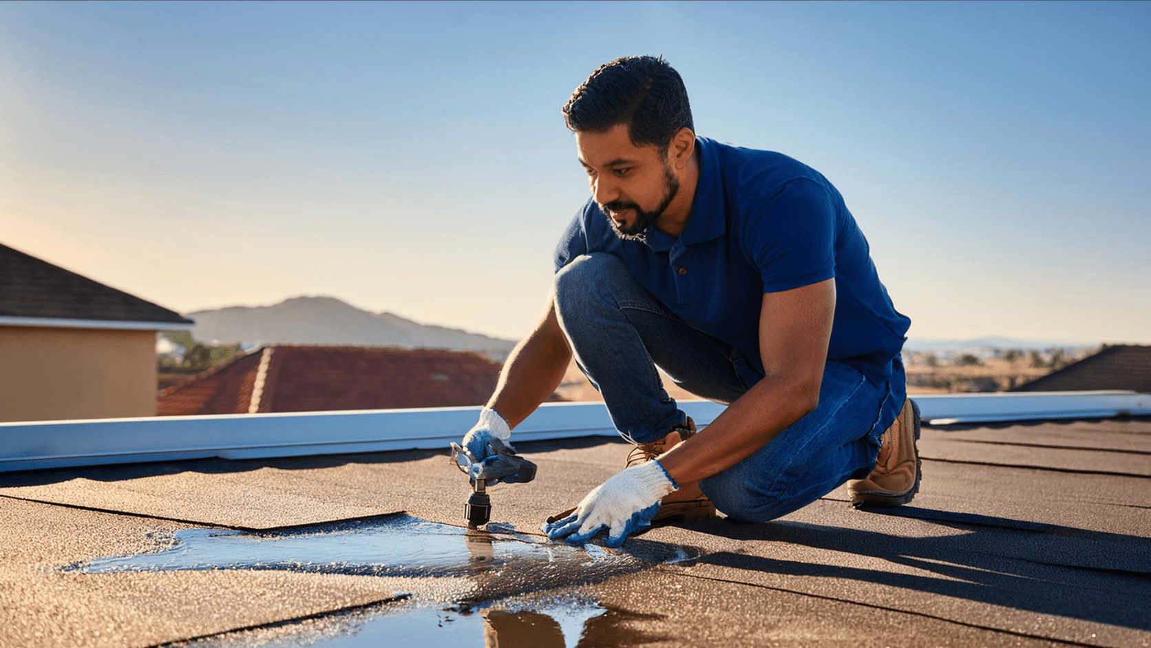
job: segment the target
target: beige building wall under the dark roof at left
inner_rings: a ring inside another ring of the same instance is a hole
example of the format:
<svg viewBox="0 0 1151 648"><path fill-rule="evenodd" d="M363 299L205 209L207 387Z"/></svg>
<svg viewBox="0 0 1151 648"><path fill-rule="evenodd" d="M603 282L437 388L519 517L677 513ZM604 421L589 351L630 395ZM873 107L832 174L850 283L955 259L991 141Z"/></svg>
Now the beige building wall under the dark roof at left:
<svg viewBox="0 0 1151 648"><path fill-rule="evenodd" d="M155 331L0 326L0 421L155 416Z"/></svg>

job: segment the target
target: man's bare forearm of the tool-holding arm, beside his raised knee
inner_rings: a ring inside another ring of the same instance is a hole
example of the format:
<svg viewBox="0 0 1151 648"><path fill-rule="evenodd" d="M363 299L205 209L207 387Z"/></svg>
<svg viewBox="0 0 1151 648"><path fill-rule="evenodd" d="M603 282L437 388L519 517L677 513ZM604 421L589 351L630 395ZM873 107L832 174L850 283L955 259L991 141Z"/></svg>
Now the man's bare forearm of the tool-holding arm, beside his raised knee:
<svg viewBox="0 0 1151 648"><path fill-rule="evenodd" d="M559 387L571 357L555 310L549 308L535 330L508 357L488 406L516 427Z"/></svg>

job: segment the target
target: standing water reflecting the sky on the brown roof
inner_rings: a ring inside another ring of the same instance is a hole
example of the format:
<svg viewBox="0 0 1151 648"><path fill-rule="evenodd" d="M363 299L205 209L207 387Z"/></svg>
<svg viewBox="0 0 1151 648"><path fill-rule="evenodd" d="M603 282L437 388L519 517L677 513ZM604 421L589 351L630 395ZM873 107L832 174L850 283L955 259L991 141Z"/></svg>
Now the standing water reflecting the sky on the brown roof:
<svg viewBox="0 0 1151 648"><path fill-rule="evenodd" d="M426 641L486 648L625 646L649 640L620 626L635 615L590 599L540 600L541 590L600 582L656 563L698 557L694 549L631 540L630 550L570 547L501 525L488 532L410 516L317 525L273 533L192 528L163 550L97 558L63 567L107 573L160 570L284 570L401 577L411 593L353 612L273 624L191 643L238 646L416 646ZM437 590L440 578L466 584ZM536 594L532 594L536 593ZM594 632L594 640L581 642ZM651 639L654 641L655 639Z"/></svg>

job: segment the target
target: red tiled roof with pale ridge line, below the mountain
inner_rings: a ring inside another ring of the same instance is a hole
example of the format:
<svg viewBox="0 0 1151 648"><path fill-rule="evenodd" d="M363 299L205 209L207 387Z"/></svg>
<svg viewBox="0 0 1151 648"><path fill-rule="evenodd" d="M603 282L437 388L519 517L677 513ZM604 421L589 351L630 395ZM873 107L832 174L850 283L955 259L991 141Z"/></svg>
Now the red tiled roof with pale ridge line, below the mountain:
<svg viewBox="0 0 1151 648"><path fill-rule="evenodd" d="M498 378L498 364L468 351L276 344L163 389L158 413L482 405Z"/></svg>

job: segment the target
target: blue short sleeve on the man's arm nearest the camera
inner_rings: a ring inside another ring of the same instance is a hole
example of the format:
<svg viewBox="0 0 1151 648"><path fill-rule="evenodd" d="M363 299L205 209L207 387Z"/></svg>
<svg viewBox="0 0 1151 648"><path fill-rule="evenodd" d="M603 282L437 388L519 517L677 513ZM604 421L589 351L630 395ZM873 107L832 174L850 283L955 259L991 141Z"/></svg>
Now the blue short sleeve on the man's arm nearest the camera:
<svg viewBox="0 0 1151 648"><path fill-rule="evenodd" d="M836 276L836 207L817 182L788 182L752 212L746 227L745 253L760 270L764 292Z"/></svg>

